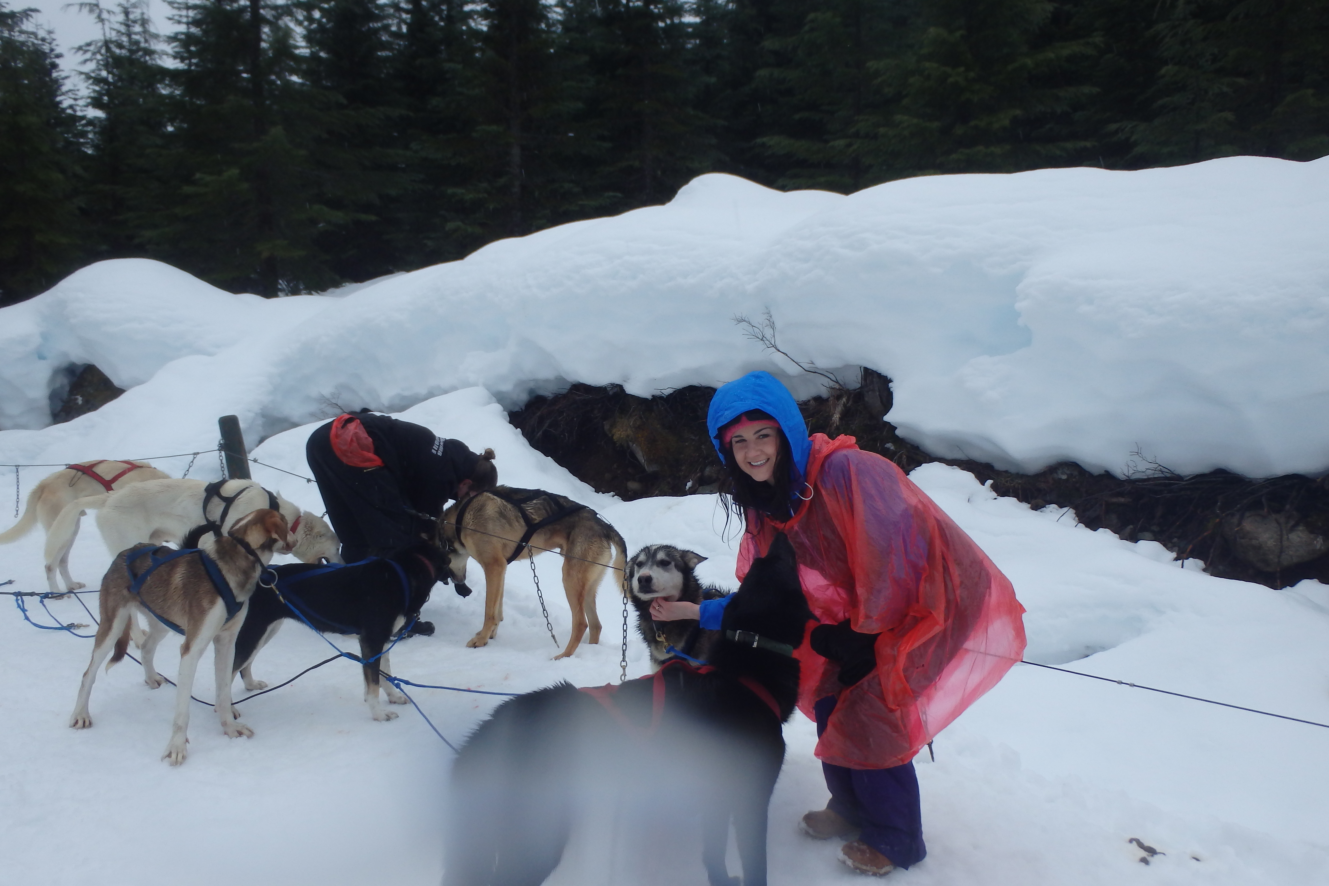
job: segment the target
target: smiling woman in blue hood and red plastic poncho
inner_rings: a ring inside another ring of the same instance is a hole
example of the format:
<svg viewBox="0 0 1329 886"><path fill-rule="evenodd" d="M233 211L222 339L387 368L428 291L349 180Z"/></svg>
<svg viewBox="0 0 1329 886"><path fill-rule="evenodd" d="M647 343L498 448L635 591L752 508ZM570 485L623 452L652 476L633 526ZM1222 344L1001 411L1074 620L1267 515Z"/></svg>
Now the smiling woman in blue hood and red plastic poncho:
<svg viewBox="0 0 1329 886"><path fill-rule="evenodd" d="M848 838L840 859L859 873L909 867L928 851L912 760L1019 660L1023 607L894 464L853 437L808 437L769 373L716 391L707 429L744 519L739 578L785 535L819 622L793 656L831 802L807 813L803 830ZM727 599L651 614L722 627Z"/></svg>

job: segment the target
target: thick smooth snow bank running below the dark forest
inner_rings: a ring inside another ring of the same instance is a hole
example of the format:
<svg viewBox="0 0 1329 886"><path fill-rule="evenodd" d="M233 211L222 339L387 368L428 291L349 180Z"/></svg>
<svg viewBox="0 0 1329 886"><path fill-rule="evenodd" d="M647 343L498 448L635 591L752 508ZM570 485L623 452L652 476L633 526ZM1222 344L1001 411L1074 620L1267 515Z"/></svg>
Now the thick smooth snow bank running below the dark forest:
<svg viewBox="0 0 1329 886"><path fill-rule="evenodd" d="M938 456L1314 474L1329 469L1326 230L1329 158L938 175L851 197L703 175L667 206L338 299L260 304L155 263L92 266L0 311L0 421L41 426L61 361L140 385L101 410L117 436L133 425L118 416L206 391L215 408L181 416L195 440L223 412L254 441L338 405L472 385L512 408L573 381L649 396L771 369L813 393L734 323L769 311L799 360L890 376L889 420ZM148 304L155 329L120 319ZM0 436L0 461L69 449L58 429Z"/></svg>

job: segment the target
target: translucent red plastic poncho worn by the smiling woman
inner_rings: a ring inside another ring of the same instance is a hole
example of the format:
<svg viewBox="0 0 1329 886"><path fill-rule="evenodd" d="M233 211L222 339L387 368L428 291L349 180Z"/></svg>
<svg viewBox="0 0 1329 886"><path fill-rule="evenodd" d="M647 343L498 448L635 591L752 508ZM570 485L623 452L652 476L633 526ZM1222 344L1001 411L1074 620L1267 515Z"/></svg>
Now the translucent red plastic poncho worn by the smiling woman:
<svg viewBox="0 0 1329 886"><path fill-rule="evenodd" d="M851 769L908 762L1021 659L1025 607L904 472L853 437L813 434L807 482L812 498L788 522L764 518L756 534L744 533L738 576L783 531L812 614L880 634L876 671L848 688L836 663L804 638L799 708L811 717L817 699L839 695L817 743L823 761Z"/></svg>

